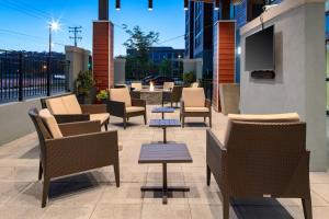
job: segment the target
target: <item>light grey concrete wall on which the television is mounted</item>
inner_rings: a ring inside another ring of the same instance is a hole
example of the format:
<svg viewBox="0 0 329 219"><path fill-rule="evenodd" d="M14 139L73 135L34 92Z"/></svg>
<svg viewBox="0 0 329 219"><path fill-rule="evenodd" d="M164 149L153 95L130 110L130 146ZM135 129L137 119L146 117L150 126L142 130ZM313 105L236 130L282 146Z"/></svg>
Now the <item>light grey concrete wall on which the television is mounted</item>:
<svg viewBox="0 0 329 219"><path fill-rule="evenodd" d="M241 28L241 113L296 112L307 123L310 170L327 171L325 1L285 0L263 14L275 28L273 80L254 80L245 70L246 37L260 31L260 19Z"/></svg>

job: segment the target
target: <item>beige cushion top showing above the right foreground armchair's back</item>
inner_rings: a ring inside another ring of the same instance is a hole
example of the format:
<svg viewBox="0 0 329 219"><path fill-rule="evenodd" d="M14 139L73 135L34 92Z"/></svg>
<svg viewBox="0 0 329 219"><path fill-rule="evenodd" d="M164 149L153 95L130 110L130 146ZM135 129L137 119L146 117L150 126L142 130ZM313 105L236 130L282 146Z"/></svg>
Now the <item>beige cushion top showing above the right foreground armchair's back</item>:
<svg viewBox="0 0 329 219"><path fill-rule="evenodd" d="M228 114L230 120L256 122L256 123L294 123L299 122L297 113L286 114L268 114L268 115L252 115L252 114Z"/></svg>

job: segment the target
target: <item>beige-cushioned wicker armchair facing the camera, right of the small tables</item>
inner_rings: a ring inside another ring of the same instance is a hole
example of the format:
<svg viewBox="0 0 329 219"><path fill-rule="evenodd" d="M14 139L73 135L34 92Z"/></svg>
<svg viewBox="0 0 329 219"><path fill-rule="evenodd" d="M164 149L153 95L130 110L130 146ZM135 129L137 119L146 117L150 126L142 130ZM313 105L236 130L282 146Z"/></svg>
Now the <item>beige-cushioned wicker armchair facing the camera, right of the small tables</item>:
<svg viewBox="0 0 329 219"><path fill-rule="evenodd" d="M212 103L205 99L203 88L184 88L181 100L181 120L182 127L185 125L186 117L203 117L204 122L209 118L212 127Z"/></svg>

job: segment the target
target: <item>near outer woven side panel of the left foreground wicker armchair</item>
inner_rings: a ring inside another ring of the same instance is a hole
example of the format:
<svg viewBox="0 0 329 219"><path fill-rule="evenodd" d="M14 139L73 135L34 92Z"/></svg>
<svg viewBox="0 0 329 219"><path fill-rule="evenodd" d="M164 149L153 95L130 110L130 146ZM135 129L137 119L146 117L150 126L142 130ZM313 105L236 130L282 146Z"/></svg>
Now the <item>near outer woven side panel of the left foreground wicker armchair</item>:
<svg viewBox="0 0 329 219"><path fill-rule="evenodd" d="M118 162L117 131L95 132L45 141L45 169L52 177Z"/></svg>

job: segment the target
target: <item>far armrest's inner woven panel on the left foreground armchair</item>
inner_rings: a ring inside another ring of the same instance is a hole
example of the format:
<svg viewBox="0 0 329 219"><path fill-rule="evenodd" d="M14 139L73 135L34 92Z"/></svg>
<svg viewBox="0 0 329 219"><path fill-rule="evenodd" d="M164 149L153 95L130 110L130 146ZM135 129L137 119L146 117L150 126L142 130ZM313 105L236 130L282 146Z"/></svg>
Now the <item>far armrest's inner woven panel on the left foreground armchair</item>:
<svg viewBox="0 0 329 219"><path fill-rule="evenodd" d="M102 130L100 122L98 122L98 120L67 123L67 124L59 124L58 126L59 126L61 134L65 137L100 132Z"/></svg>

